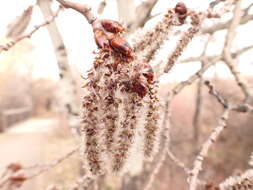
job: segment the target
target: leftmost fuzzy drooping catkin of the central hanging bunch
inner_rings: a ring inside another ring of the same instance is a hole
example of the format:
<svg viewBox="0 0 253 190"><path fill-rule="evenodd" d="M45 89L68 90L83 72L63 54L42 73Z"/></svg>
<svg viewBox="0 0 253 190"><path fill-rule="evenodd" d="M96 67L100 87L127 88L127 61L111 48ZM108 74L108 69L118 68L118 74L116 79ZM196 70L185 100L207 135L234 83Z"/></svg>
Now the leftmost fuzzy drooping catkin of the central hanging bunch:
<svg viewBox="0 0 253 190"><path fill-rule="evenodd" d="M106 169L107 153L106 144L106 124L110 120L105 120L105 106L109 104L107 92L107 75L108 68L106 64L102 64L108 59L108 52L101 51L95 58L94 67L88 73L88 83L86 84L88 95L83 98L83 125L81 132L83 133L82 154L84 163L87 159L85 167L93 175L99 175ZM109 113L109 112L108 112ZM104 122L107 121L107 122Z"/></svg>

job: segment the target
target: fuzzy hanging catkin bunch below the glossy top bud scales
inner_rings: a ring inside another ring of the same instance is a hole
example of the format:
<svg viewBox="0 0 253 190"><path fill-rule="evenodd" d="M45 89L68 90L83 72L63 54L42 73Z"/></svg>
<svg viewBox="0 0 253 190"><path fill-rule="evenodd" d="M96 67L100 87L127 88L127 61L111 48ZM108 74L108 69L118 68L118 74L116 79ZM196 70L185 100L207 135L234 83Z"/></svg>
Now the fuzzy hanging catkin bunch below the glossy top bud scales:
<svg viewBox="0 0 253 190"><path fill-rule="evenodd" d="M152 158L159 136L159 99L152 68L136 57L129 61L119 52L100 49L86 88L81 132L89 171L119 173L136 150Z"/></svg>

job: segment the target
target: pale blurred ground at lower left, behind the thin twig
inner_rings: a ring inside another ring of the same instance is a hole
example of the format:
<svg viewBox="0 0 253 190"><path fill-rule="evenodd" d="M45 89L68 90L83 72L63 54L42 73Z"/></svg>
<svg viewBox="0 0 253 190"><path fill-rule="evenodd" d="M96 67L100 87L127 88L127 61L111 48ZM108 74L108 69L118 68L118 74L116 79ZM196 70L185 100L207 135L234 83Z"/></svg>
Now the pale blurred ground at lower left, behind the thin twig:
<svg viewBox="0 0 253 190"><path fill-rule="evenodd" d="M11 162L24 166L47 164L74 148L76 140L69 130L60 127L61 123L56 118L33 118L1 133L0 174ZM45 190L49 184L63 187L72 184L79 163L78 155L74 155L46 174L26 182L21 190Z"/></svg>

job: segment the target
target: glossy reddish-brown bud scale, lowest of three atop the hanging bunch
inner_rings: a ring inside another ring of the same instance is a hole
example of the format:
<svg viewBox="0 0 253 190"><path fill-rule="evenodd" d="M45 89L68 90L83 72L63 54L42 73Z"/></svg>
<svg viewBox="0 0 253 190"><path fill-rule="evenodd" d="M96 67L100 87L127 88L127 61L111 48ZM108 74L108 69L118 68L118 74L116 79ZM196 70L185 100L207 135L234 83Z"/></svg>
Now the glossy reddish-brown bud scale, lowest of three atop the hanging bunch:
<svg viewBox="0 0 253 190"><path fill-rule="evenodd" d="M116 52L122 53L125 56L132 57L133 50L129 43L121 37L114 37L110 40L112 49Z"/></svg>

